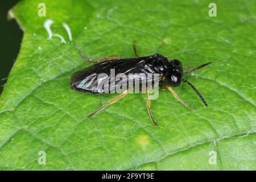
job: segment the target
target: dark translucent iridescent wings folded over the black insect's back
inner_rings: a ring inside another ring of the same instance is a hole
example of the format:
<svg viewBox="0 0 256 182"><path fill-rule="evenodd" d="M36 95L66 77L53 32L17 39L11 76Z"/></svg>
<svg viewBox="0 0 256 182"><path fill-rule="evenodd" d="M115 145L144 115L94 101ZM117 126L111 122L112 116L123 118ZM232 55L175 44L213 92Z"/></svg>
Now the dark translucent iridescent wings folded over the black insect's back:
<svg viewBox="0 0 256 182"><path fill-rule="evenodd" d="M112 92L118 84L126 85L129 81L133 80L139 80L140 83L150 81L148 80L148 75L159 72L158 68L155 67L155 64L159 64L156 63L159 61L159 56L161 59L166 59L162 55L152 55L130 59L103 61L73 73L71 77L71 84L73 88L77 90L99 93L99 88L104 88L104 86L102 87L104 83L108 83L108 92ZM160 62L162 64L166 64L163 60L160 60ZM126 78L116 80L115 78L118 76L125 76ZM151 76L150 79L154 80L154 76Z"/></svg>

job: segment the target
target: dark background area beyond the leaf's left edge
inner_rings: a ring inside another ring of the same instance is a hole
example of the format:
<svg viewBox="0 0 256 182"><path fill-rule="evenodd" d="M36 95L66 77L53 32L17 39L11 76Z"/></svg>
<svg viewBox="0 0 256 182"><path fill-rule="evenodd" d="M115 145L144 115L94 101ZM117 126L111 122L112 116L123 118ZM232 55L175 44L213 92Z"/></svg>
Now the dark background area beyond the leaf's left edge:
<svg viewBox="0 0 256 182"><path fill-rule="evenodd" d="M7 20L7 12L18 0L0 1L0 94L18 55L23 32L14 19Z"/></svg>

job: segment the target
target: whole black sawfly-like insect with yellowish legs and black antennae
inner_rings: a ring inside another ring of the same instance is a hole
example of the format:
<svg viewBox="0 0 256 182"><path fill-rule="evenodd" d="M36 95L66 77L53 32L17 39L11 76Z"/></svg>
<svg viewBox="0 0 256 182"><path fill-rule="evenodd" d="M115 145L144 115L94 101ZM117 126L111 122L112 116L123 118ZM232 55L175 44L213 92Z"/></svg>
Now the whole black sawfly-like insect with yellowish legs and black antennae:
<svg viewBox="0 0 256 182"><path fill-rule="evenodd" d="M191 82L185 80L183 76L188 75L189 73L192 73L198 69L201 69L211 64L212 62L200 65L199 67L193 68L188 72L183 72L183 65L179 60L173 59L171 61L168 61L167 57L164 57L163 55L157 53L151 56L139 57L137 55L135 42L133 42L133 49L135 55L135 57L133 58L121 59L121 57L118 56L105 57L104 59L95 60L97 61L96 64L85 69L82 69L81 71L73 73L71 77L72 89L90 93L99 93L97 86L101 84L101 81L98 80L97 77L101 73L106 73L106 78L108 82L110 82L112 80L112 78L110 78L110 69L115 69L115 75L117 75L118 73L122 73L128 76L127 79L129 80L134 79L135 77L130 76L130 73L144 73L143 76L139 77L140 84L148 81L146 77L147 75L150 75L152 73L158 73L158 81L160 88L170 90L170 92L179 102L181 102L181 104L191 109L194 109L194 107L181 100L181 98L176 94L174 89L172 89L172 87L179 86L181 82L185 82L186 84L191 86L191 88L196 92L197 96L199 96L201 101L203 101L204 105L208 107L207 102L205 102L204 98L201 96L201 94L195 88L195 86L193 86ZM127 82L127 80L123 80L123 82ZM117 84L117 81L114 81L112 84L110 84L109 91L112 91ZM125 89L121 94L114 97L112 100L109 100L108 102L106 102L106 104L102 105L97 110L93 111L92 114L88 115L88 118L91 118L94 114L97 114L105 107L114 104L114 102L126 96L128 92L129 89ZM150 109L150 92L148 88L146 88L146 94L146 106L148 115L152 123L154 123L155 126L158 126L158 123L155 122L155 119L152 115L152 111Z"/></svg>

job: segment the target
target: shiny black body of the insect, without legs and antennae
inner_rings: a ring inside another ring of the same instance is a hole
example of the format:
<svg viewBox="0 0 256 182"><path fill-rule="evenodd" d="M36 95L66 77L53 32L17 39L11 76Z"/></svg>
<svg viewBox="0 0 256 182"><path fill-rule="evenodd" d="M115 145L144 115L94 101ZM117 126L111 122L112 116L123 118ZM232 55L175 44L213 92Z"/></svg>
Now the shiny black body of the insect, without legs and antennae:
<svg viewBox="0 0 256 182"><path fill-rule="evenodd" d="M98 75L100 73L106 73L110 82L112 79L110 78L110 69L115 70L115 76L118 73L125 74L127 80L122 80L123 82L128 82L131 79L139 79L139 82L142 83L148 81L148 75L151 75L154 84L154 73L158 73L159 86L162 86L163 84L179 86L183 76L183 68L179 60L171 60L169 62L167 57L155 54L145 57L108 60L94 64L81 71L73 73L71 77L72 88L75 90L98 93L97 86L100 84L97 79ZM130 73L144 74L129 75ZM117 82L114 82L114 84L109 86L110 91L115 88L116 84Z"/></svg>

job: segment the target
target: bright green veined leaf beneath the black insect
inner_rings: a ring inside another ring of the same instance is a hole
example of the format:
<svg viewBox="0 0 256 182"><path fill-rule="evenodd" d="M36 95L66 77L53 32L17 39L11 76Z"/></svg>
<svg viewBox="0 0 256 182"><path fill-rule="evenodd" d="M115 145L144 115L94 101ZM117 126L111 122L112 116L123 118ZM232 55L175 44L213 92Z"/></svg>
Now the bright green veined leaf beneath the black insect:
<svg viewBox="0 0 256 182"><path fill-rule="evenodd" d="M38 16L38 4L46 16ZM255 1L20 1L9 13L24 30L22 47L0 99L0 169L256 169ZM48 39L46 20L53 20ZM72 33L69 40L63 27ZM213 61L188 85L151 101L126 97L88 119L116 94L69 87L73 72L110 55L161 53L183 65ZM46 164L38 163L46 152ZM216 160L215 160L216 159Z"/></svg>

